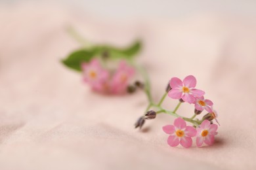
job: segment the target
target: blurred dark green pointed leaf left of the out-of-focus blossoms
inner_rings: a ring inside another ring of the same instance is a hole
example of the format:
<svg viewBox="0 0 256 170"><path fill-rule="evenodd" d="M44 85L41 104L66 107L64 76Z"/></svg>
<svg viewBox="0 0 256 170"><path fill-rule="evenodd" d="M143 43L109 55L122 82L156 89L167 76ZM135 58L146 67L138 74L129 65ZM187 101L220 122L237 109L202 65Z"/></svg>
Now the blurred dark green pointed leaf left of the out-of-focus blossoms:
<svg viewBox="0 0 256 170"><path fill-rule="evenodd" d="M81 63L89 62L95 56L96 50L77 50L72 52L62 63L71 69L81 71Z"/></svg>

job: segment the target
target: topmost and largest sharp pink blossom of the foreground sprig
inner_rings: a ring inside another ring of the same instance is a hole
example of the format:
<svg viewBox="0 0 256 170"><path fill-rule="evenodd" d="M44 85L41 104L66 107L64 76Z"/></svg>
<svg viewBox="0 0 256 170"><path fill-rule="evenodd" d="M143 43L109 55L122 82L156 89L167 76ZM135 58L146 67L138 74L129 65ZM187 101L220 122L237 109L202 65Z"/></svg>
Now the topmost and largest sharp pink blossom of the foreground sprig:
<svg viewBox="0 0 256 170"><path fill-rule="evenodd" d="M202 97L205 92L196 89L196 78L192 75L186 76L183 81L177 77L171 78L169 82L171 90L168 96L172 99L182 99L188 103L194 103L195 97Z"/></svg>

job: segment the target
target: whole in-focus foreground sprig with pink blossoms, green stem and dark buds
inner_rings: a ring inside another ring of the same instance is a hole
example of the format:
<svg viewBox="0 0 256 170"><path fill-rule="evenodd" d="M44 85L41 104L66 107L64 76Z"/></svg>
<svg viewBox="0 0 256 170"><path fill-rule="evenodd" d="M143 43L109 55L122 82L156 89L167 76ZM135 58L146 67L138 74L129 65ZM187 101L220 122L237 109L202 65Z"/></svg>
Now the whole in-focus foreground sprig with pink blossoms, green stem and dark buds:
<svg viewBox="0 0 256 170"><path fill-rule="evenodd" d="M174 125L163 126L163 131L169 134L167 143L170 146L177 146L181 144L185 148L192 146L192 137L196 137L196 145L202 146L203 143L211 145L214 143L215 135L217 135L217 111L213 109L213 102L209 99L205 99L205 92L203 90L196 89L196 78L192 75L186 76L184 80L173 77L169 80L169 84L165 90L160 103L151 103L150 107L156 107L157 112L150 110L141 116L136 122L135 127L142 127L145 120L156 118L158 113L167 113L178 117L174 121ZM168 95L171 99L179 100L179 104L173 111L165 110L161 107L161 102ZM192 118L186 118L177 114L177 109L181 103L189 103L194 105L194 116ZM207 112L201 120L195 119L196 116L202 114L203 110ZM217 124L213 124L213 120ZM186 122L190 122L193 126L186 126Z"/></svg>

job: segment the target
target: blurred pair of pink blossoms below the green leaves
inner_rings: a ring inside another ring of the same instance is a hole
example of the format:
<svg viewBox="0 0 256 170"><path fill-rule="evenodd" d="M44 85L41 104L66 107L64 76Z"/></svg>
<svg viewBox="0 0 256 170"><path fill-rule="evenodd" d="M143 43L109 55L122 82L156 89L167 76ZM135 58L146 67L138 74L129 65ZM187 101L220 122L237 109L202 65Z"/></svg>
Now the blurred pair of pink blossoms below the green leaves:
<svg viewBox="0 0 256 170"><path fill-rule="evenodd" d="M129 80L135 74L135 69L126 61L119 62L115 71L105 69L98 59L92 59L89 63L82 63L83 80L93 90L100 93L125 93Z"/></svg>

